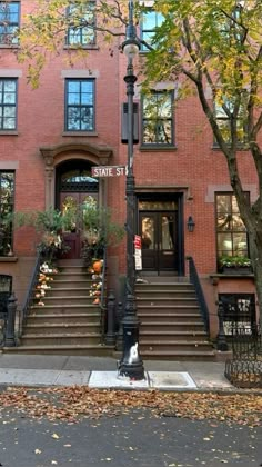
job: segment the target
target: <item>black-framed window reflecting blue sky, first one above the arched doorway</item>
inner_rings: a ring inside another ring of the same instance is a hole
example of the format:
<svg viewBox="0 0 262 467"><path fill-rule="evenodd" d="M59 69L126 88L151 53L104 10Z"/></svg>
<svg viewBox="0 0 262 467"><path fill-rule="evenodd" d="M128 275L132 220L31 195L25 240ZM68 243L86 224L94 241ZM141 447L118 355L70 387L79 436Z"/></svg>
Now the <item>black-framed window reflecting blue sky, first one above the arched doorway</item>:
<svg viewBox="0 0 262 467"><path fill-rule="evenodd" d="M66 131L94 130L94 80L67 79Z"/></svg>

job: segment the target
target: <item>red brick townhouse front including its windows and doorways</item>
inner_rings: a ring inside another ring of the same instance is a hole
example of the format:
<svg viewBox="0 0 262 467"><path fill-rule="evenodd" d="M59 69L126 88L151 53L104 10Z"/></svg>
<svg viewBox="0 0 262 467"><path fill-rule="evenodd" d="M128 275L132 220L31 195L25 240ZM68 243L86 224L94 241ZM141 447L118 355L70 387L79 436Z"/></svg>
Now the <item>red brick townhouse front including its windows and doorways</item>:
<svg viewBox="0 0 262 467"><path fill-rule="evenodd" d="M3 3L0 2L2 19L9 14ZM32 0L11 1L8 8L12 12L9 21L16 27L32 8ZM61 209L69 195L75 202L92 196L101 206L111 207L117 212L115 220L124 223L125 177L97 181L89 177L94 166L127 165L127 145L121 143L125 57L117 47L117 52L110 54L99 33L82 31L75 39L75 30L69 31L64 52L48 60L39 88L32 90L27 82L27 64L19 64L13 53L16 43L7 46L4 36L10 32L11 26L10 30L8 26L0 30L0 205L6 202L7 183L11 190L9 201L13 203L10 209L16 211L44 210L50 206ZM71 67L64 58L68 47L77 40L87 48L87 58L78 59ZM150 101L141 97L139 81L135 85L135 222L139 235L151 237L143 242L141 275L149 280L187 280L187 257L191 256L210 312L211 337L215 337L220 295L233 294L238 300L254 294L252 275L225 276L218 269L219 256L223 254L249 255L248 238L232 196L224 156L215 147L198 99L190 97L173 105L175 92L173 83L161 82L152 89ZM208 88L205 92L210 92ZM149 111L152 99L158 108L158 125ZM258 196L258 180L248 152L240 151L239 163L252 201ZM189 231L189 220L193 220L193 231ZM13 277L21 307L37 240L31 229L22 228L4 241L0 274ZM78 241L70 254L72 259L81 256ZM122 241L110 249L108 260L110 286L117 295L124 271Z"/></svg>

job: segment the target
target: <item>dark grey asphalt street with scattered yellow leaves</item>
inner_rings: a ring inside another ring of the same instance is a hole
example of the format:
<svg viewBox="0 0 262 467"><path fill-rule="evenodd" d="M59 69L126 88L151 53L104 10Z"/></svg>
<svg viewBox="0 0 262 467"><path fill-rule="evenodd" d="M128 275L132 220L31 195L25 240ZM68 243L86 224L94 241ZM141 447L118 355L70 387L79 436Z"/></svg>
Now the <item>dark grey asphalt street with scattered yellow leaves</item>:
<svg viewBox="0 0 262 467"><path fill-rule="evenodd" d="M1 467L259 467L262 428L132 409L79 423L3 409Z"/></svg>

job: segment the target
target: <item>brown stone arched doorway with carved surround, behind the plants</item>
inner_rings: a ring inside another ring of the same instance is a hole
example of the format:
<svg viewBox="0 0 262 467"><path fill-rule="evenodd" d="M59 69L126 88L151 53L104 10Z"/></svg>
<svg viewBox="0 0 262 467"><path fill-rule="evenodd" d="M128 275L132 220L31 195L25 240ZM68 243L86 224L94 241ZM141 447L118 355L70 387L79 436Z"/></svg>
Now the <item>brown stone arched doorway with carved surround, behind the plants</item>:
<svg viewBox="0 0 262 467"><path fill-rule="evenodd" d="M113 149L105 145L70 142L40 148L44 160L46 209L50 206L62 208L64 201L79 206L85 198L107 202L107 180L91 180L91 166L109 165ZM71 181L70 181L71 177ZM67 198L66 200L63 199ZM79 232L68 232L71 250L68 258L79 258L81 240ZM71 237L70 237L71 236Z"/></svg>

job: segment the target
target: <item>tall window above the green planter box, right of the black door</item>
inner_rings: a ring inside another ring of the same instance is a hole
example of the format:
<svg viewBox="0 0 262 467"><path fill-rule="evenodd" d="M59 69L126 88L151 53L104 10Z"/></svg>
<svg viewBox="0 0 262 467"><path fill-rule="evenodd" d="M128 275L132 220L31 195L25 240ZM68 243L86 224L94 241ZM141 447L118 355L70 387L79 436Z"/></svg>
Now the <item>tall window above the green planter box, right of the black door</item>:
<svg viewBox="0 0 262 467"><path fill-rule="evenodd" d="M234 195L216 195L216 242L219 258L249 256L248 235Z"/></svg>

